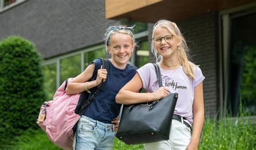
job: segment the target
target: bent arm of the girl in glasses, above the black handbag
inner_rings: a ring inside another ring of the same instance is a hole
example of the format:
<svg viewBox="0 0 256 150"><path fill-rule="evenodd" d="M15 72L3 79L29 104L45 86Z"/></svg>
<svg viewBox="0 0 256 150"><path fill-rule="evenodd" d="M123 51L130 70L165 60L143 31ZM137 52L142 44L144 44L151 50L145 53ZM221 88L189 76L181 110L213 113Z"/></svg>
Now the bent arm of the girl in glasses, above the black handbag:
<svg viewBox="0 0 256 150"><path fill-rule="evenodd" d="M153 93L138 93L143 87L142 79L138 73L118 92L116 103L136 104L147 101L154 101L166 97L169 94L167 87L160 87Z"/></svg>

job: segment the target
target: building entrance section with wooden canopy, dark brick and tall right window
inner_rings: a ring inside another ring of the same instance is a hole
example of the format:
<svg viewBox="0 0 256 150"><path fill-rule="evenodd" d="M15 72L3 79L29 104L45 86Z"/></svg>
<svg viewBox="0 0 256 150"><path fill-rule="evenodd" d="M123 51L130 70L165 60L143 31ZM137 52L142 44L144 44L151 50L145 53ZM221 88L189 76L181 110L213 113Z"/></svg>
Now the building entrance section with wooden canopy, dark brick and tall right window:
<svg viewBox="0 0 256 150"><path fill-rule="evenodd" d="M256 52L255 1L105 2L109 19L155 23L164 18L177 23L191 49L193 62L200 65L206 77L206 115L235 116L239 107L243 113L256 115L256 66L252 59Z"/></svg>

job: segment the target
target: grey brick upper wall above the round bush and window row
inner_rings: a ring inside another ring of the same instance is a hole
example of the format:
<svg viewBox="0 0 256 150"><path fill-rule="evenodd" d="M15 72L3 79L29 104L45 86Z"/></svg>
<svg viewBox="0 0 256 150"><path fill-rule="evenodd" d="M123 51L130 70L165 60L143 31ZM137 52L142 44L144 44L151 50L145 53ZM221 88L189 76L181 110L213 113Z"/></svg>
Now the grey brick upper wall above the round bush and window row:
<svg viewBox="0 0 256 150"><path fill-rule="evenodd" d="M21 35L45 59L103 43L107 26L118 23L105 19L102 0L26 1L0 13L0 21L0 40Z"/></svg>

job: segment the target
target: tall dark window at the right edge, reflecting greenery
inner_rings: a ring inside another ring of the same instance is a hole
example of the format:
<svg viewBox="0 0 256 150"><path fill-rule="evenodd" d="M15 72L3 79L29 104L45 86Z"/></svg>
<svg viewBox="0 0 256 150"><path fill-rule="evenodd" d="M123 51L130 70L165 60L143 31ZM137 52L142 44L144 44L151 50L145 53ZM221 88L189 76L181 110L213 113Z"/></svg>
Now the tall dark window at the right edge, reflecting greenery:
<svg viewBox="0 0 256 150"><path fill-rule="evenodd" d="M230 60L228 77L228 110L235 116L256 115L256 13L231 15Z"/></svg>

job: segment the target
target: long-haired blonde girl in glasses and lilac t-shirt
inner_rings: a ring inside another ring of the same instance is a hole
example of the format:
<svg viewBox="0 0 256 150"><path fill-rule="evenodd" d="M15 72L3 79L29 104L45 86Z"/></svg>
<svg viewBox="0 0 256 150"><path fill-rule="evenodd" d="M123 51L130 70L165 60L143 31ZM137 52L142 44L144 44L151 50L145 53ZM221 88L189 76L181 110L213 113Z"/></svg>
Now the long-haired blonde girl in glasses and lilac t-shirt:
<svg viewBox="0 0 256 150"><path fill-rule="evenodd" d="M159 88L154 66L149 63L137 70L132 80L119 91L116 101L120 104L144 103L178 93L170 139L145 144L145 149L197 149L204 123L205 77L200 68L188 60L188 47L175 23L160 20L154 24L151 49L160 66L163 87ZM147 93L138 93L142 87Z"/></svg>

